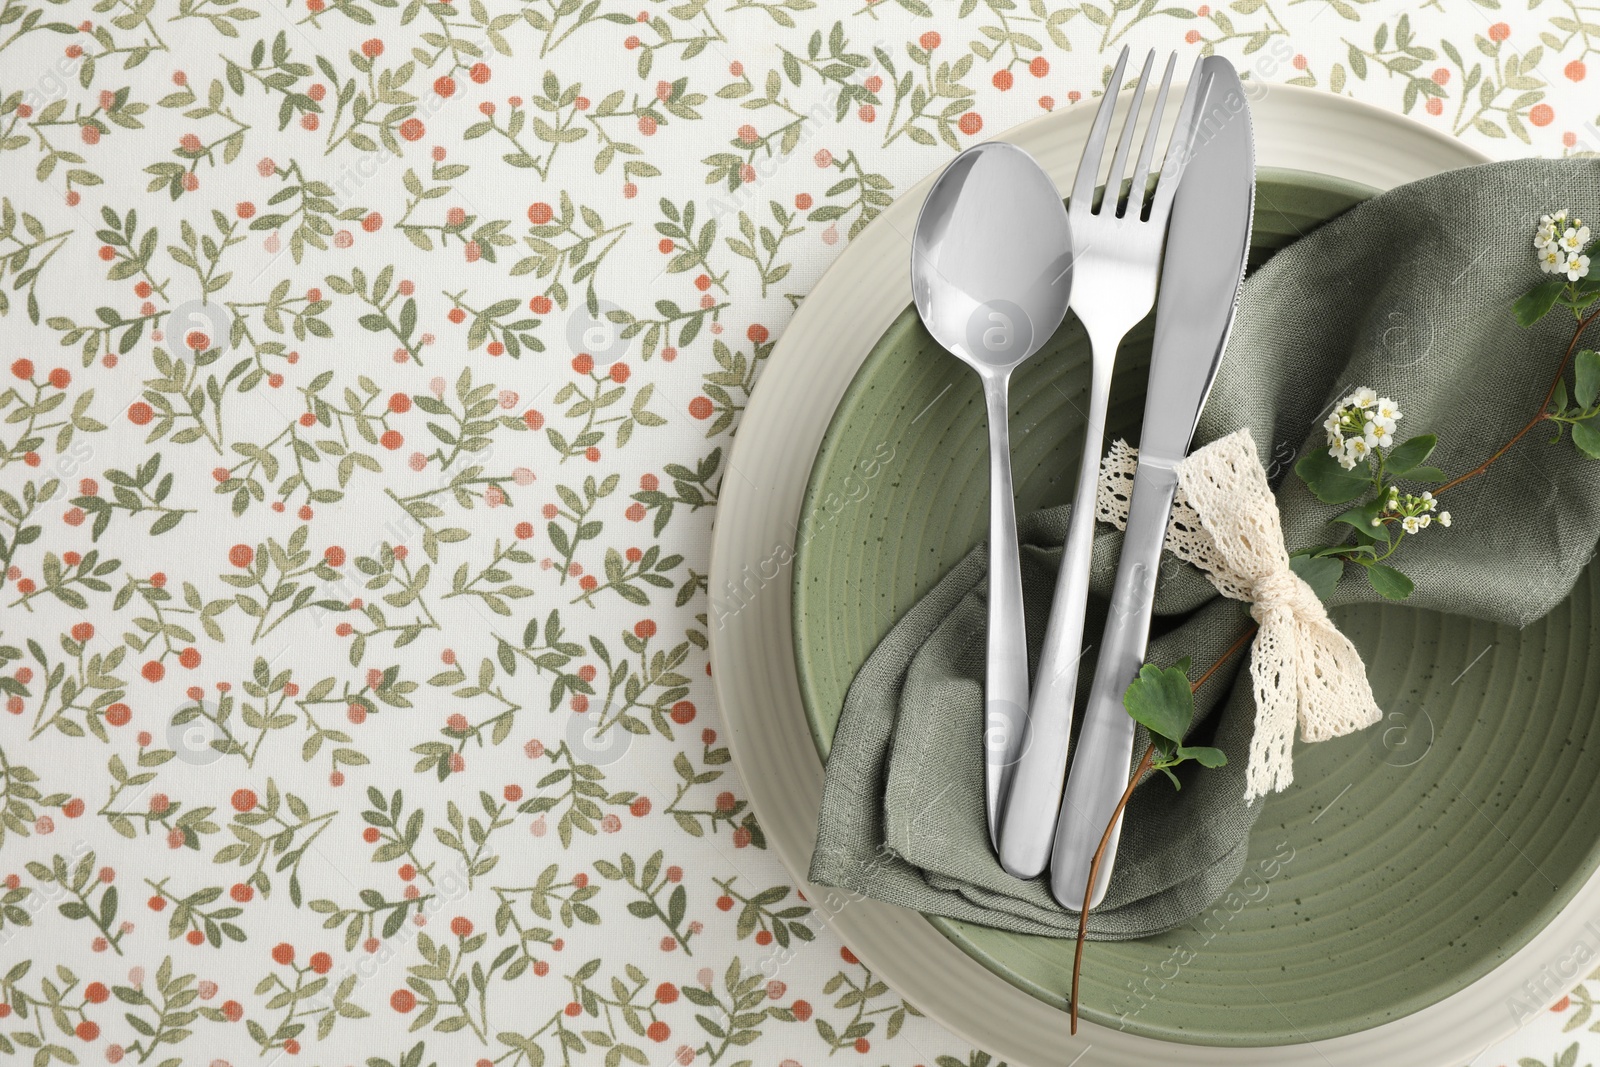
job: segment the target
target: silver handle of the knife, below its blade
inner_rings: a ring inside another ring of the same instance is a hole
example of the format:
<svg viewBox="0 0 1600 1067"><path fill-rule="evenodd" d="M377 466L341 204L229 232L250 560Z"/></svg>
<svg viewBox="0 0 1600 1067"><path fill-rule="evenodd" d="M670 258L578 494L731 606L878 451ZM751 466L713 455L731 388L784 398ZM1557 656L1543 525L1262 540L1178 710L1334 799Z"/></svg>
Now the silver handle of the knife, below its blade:
<svg viewBox="0 0 1600 1067"><path fill-rule="evenodd" d="M1144 664L1162 544L1166 541L1166 520L1176 491L1178 474L1170 464L1139 458L1139 469L1133 477L1133 502L1128 506L1128 531L1117 563L1117 584L1112 589L1094 685L1083 713L1078 750L1067 774L1050 861L1050 889L1056 901L1074 912L1083 909L1090 864L1117 801L1128 789L1136 723L1123 707L1122 694ZM1106 897L1120 837L1122 816L1106 841L1090 907Z"/></svg>

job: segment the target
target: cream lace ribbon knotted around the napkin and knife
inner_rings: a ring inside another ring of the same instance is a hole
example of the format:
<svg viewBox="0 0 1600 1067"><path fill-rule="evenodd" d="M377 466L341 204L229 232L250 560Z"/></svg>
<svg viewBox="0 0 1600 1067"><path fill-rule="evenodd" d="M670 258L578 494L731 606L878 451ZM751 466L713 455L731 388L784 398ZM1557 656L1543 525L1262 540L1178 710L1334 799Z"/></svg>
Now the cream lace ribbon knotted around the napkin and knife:
<svg viewBox="0 0 1600 1067"><path fill-rule="evenodd" d="M1128 526L1136 469L1138 450L1115 442L1101 462L1096 518ZM1360 653L1333 625L1310 585L1290 569L1278 504L1248 429L1178 464L1166 550L1198 566L1224 597L1250 603L1259 624L1250 659L1256 733L1246 801L1294 781L1296 720L1302 741L1326 741L1382 717Z"/></svg>

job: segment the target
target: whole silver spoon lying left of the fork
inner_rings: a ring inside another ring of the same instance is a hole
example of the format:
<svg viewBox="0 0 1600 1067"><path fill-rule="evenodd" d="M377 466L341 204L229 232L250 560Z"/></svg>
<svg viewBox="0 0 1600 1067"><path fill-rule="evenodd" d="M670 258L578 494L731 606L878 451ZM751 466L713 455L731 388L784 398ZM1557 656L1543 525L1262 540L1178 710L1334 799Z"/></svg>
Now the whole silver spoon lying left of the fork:
<svg viewBox="0 0 1600 1067"><path fill-rule="evenodd" d="M1027 734L1027 632L1006 426L1011 371L1067 314L1072 242L1061 194L1022 149L992 141L957 155L912 235L912 293L928 333L978 371L989 411L989 641L984 798L998 848L1000 798Z"/></svg>

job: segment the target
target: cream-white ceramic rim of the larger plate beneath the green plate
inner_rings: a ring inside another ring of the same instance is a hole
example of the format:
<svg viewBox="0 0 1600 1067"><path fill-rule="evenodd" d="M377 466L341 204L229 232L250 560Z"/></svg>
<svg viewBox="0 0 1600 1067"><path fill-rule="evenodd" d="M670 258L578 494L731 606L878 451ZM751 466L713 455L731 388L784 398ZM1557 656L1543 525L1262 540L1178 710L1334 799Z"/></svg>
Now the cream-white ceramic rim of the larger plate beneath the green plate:
<svg viewBox="0 0 1600 1067"><path fill-rule="evenodd" d="M1347 98L1259 83L1250 94L1261 168L1390 189L1486 162L1450 136ZM1027 149L1067 189L1091 118L1093 107L1085 104L1035 118L1000 139ZM811 464L834 411L872 346L910 304L909 237L931 184L933 176L904 192L811 290L773 349L728 456L730 475L712 533L712 675L734 766L771 849L862 963L934 1021L1014 1067L1133 1067L1176 1048L1195 1067L1446 1067L1475 1061L1563 992L1552 977L1578 976L1562 968L1579 945L1594 950L1590 917L1600 915L1600 875L1523 949L1445 1000L1358 1033L1254 1048L1179 1046L1091 1022L1069 1038L1062 1013L989 971L917 912L805 881L822 766L794 662L794 539ZM774 960L781 965L782 957ZM1530 990L1544 1003L1530 1003Z"/></svg>

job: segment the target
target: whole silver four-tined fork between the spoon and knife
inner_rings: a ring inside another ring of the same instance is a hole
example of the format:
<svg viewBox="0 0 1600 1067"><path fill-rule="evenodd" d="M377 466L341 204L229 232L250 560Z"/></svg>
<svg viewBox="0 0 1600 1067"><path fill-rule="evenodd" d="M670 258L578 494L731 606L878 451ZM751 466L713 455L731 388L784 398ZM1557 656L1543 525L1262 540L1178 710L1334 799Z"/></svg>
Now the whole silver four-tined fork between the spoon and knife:
<svg viewBox="0 0 1600 1067"><path fill-rule="evenodd" d="M1099 482L1101 443L1106 434L1106 402L1110 395L1110 371L1117 346L1155 304L1155 282L1160 277L1162 246L1173 192L1187 155L1190 123L1198 77L1190 78L1162 163L1155 192L1144 211L1146 186L1155 155L1155 139L1166 107L1166 90L1173 80L1176 53L1166 61L1162 86L1155 94L1149 130L1133 168L1126 200L1122 197L1123 168L1133 146L1134 126L1144 104L1146 86L1155 53L1144 61L1144 72L1133 91L1133 104L1123 122L1117 152L1106 178L1106 192L1094 203L1094 187L1117 106L1118 86L1128 62L1123 48L1106 83L1083 146L1083 160L1072 186L1067 219L1072 230L1074 282L1070 307L1090 334L1093 376L1090 411L1083 437L1083 462L1078 467L1077 496L1067 526L1067 544L1061 557L1050 625L1038 661L1034 697L1029 704L1027 736L1022 755L1011 776L1011 787L1000 819L1000 865L1018 878L1032 878L1050 862L1056 833L1056 814L1067 773L1067 742L1072 729L1072 697L1077 691L1078 662L1083 656L1083 609L1088 601L1090 549L1094 541L1094 488ZM1198 66L1195 67L1198 75Z"/></svg>

